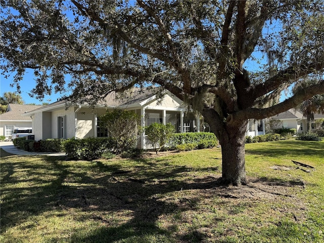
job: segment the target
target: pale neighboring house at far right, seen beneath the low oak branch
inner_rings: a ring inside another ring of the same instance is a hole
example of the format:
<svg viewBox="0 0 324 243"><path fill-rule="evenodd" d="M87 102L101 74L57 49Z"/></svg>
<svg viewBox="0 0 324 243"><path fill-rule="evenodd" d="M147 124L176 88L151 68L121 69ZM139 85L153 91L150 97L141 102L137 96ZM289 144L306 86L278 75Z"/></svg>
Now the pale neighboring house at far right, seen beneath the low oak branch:
<svg viewBox="0 0 324 243"><path fill-rule="evenodd" d="M282 128L295 128L297 133L307 132L307 118L303 116L303 113L294 108L274 115L271 118L281 120ZM324 118L324 114L314 114L314 121L321 118ZM311 123L311 130L314 129L314 121Z"/></svg>

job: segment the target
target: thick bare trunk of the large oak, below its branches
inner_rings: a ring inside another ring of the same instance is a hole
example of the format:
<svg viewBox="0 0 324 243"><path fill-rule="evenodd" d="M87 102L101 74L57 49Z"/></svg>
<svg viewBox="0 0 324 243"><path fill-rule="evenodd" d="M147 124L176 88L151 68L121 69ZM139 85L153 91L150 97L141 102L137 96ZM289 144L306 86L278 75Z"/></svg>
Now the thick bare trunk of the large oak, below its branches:
<svg viewBox="0 0 324 243"><path fill-rule="evenodd" d="M247 123L226 129L220 138L222 147L222 183L246 185L245 132Z"/></svg>

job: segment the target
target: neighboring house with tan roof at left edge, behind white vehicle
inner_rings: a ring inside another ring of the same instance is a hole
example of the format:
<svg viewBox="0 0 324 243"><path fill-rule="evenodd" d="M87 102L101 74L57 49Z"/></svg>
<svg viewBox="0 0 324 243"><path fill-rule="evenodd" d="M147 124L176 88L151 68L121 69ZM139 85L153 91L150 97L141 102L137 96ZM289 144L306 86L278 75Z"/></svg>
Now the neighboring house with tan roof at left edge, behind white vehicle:
<svg viewBox="0 0 324 243"><path fill-rule="evenodd" d="M0 135L5 136L6 139L9 139L15 128L31 127L31 117L22 116L22 114L39 107L41 106L9 104L7 111L0 114Z"/></svg>

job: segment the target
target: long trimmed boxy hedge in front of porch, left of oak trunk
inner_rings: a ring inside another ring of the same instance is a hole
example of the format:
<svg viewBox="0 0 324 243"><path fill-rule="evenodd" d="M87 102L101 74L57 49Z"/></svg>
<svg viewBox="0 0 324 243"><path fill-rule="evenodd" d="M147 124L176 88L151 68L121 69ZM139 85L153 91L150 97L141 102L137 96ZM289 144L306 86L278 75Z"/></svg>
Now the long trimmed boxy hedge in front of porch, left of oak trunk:
<svg viewBox="0 0 324 243"><path fill-rule="evenodd" d="M168 147L170 149L177 149L177 145L195 144L195 148L212 148L217 145L217 138L214 133L200 132L200 133L174 133L170 138ZM180 146L181 147L181 146Z"/></svg>

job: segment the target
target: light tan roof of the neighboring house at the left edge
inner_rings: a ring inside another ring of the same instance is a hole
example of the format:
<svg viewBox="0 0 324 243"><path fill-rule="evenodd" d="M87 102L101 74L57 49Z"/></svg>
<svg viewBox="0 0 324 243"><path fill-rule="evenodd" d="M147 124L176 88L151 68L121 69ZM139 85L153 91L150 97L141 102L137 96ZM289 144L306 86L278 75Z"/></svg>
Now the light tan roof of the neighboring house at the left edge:
<svg viewBox="0 0 324 243"><path fill-rule="evenodd" d="M0 120L31 120L29 116L22 116L22 114L42 107L41 105L20 105L9 104L8 111L0 114Z"/></svg>

